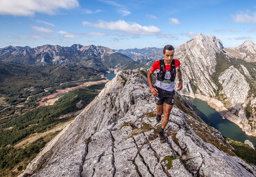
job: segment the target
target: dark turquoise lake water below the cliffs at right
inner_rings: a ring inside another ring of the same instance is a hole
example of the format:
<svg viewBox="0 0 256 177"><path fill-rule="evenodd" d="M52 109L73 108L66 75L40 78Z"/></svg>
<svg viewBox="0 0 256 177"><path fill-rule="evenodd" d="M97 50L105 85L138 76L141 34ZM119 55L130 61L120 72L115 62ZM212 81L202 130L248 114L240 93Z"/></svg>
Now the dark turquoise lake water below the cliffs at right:
<svg viewBox="0 0 256 177"><path fill-rule="evenodd" d="M193 99L189 97L189 99L197 116L204 120L204 122L210 124L210 126L219 130L223 136L242 143L248 139L256 145L256 137L246 135L238 125L227 119L222 119L222 116L210 107L208 103L197 98Z"/></svg>

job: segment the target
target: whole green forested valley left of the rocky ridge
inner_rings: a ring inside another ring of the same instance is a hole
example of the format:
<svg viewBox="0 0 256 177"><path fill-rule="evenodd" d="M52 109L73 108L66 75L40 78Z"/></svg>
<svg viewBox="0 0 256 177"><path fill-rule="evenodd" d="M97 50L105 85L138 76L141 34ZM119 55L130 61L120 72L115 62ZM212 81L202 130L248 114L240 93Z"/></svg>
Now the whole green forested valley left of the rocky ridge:
<svg viewBox="0 0 256 177"><path fill-rule="evenodd" d="M57 89L102 80L102 74L77 63L39 66L0 62L0 176L17 176L59 131L26 145L18 143L73 120L74 116L60 116L83 109L105 84L65 93L54 105L38 107L41 98ZM81 100L83 105L78 108L76 103Z"/></svg>

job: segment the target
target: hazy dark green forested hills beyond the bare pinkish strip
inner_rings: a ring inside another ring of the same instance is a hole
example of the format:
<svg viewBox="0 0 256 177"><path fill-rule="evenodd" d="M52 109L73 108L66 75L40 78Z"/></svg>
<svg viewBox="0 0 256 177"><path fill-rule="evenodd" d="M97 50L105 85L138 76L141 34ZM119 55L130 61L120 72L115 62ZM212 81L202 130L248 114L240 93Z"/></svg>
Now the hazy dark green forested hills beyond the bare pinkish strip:
<svg viewBox="0 0 256 177"><path fill-rule="evenodd" d="M98 71L75 63L39 66L0 62L0 76L0 97L8 105L22 103L27 97L64 82L101 79Z"/></svg>

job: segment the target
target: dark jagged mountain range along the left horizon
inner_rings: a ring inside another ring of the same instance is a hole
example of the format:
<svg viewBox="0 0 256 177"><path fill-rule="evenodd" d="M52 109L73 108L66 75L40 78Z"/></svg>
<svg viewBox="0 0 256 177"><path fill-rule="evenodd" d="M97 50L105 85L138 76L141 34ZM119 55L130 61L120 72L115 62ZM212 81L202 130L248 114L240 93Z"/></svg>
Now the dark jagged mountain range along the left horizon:
<svg viewBox="0 0 256 177"><path fill-rule="evenodd" d="M70 47L43 45L35 48L7 46L0 48L0 61L26 65L76 63L100 72L134 62L126 55L114 52L110 48L94 45L82 46L80 44L74 44Z"/></svg>

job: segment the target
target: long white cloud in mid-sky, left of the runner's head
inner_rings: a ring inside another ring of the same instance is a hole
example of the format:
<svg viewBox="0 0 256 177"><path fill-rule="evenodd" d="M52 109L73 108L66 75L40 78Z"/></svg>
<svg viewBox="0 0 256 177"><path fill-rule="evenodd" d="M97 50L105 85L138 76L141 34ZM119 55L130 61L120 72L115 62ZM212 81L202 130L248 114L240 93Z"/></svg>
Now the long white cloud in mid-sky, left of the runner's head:
<svg viewBox="0 0 256 177"><path fill-rule="evenodd" d="M126 22L124 20L99 23L90 23L89 21L83 21L82 25L89 25L95 28L110 29L113 31L123 31L136 35L154 35L161 32L161 29L155 26L141 26L135 22Z"/></svg>

